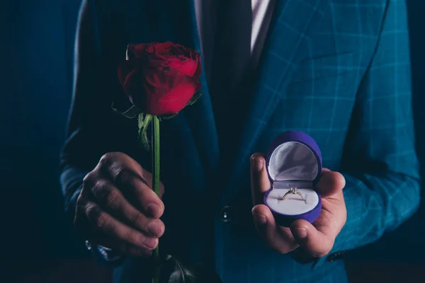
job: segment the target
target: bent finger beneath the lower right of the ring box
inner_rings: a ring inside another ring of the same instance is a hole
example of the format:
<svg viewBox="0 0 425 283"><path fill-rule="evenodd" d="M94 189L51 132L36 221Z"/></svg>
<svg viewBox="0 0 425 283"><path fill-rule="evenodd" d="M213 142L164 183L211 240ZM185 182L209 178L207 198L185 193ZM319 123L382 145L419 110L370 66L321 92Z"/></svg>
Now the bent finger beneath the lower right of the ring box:
<svg viewBox="0 0 425 283"><path fill-rule="evenodd" d="M330 226L319 226L316 229L305 220L294 221L290 231L300 246L315 258L322 258L331 251L337 235Z"/></svg>

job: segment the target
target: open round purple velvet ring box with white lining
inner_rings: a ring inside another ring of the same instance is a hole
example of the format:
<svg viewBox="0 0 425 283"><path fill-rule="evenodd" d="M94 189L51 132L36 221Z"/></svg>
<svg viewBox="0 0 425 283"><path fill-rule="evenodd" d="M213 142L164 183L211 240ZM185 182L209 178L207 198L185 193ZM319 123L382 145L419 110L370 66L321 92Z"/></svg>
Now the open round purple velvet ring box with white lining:
<svg viewBox="0 0 425 283"><path fill-rule="evenodd" d="M315 221L322 210L322 197L314 190L322 171L322 156L314 139L298 131L280 134L268 149L266 168L273 185L264 195L264 204L276 223L289 227L297 219ZM295 187L302 196L289 193Z"/></svg>

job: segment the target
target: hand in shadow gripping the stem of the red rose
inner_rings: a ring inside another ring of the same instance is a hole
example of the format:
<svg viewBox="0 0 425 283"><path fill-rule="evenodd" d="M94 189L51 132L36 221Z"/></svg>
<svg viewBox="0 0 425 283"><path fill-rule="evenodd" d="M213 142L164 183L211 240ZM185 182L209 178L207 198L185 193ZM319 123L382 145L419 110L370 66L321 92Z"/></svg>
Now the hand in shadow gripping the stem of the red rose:
<svg viewBox="0 0 425 283"><path fill-rule="evenodd" d="M130 156L106 154L84 178L74 219L77 230L91 244L150 256L165 229L159 219L164 203L150 184L152 174Z"/></svg>

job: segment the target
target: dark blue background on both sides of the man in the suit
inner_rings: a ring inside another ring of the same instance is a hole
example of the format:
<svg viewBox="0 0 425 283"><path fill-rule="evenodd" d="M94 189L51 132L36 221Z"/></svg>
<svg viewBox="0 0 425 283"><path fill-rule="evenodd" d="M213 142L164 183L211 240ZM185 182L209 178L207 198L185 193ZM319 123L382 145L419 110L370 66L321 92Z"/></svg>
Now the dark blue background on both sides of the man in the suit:
<svg viewBox="0 0 425 283"><path fill-rule="evenodd" d="M0 282L110 281L64 219L57 174L80 2L0 1ZM425 162L425 2L407 3L416 147ZM422 207L396 232L349 253L351 281L425 282L424 216Z"/></svg>

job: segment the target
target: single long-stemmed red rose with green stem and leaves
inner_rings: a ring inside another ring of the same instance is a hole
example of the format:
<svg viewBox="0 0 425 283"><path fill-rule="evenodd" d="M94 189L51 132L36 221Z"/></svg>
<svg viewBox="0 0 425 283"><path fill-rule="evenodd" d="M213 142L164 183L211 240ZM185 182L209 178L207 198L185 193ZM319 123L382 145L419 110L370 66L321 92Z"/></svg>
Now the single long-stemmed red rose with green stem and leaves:
<svg viewBox="0 0 425 283"><path fill-rule="evenodd" d="M161 195L159 122L174 117L187 105L192 105L198 100L201 69L200 54L196 50L173 42L129 44L126 60L118 67L118 79L133 105L129 110L137 110L140 140L145 149L152 154L151 195ZM147 137L149 125L152 125L150 144ZM164 204L162 208L164 209ZM152 224L152 221L149 223ZM149 243L153 242L149 240ZM154 246L158 246L158 242ZM152 255L155 264L152 270L154 283L159 282L161 277L162 282L165 282L164 278L166 282L176 280L186 282L186 277L195 275L200 282L205 282L206 279L210 282L212 278L215 278L212 282L221 282L215 272L200 271L199 268L195 270L183 268L179 260L171 255L161 258L158 247L154 249ZM173 268L169 268L170 264ZM166 270L163 270L164 268Z"/></svg>

